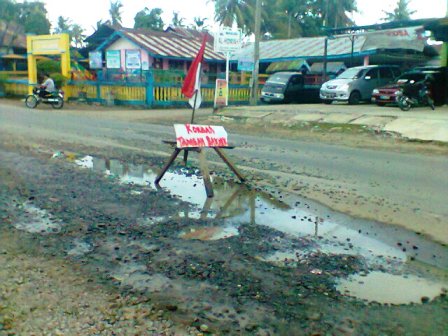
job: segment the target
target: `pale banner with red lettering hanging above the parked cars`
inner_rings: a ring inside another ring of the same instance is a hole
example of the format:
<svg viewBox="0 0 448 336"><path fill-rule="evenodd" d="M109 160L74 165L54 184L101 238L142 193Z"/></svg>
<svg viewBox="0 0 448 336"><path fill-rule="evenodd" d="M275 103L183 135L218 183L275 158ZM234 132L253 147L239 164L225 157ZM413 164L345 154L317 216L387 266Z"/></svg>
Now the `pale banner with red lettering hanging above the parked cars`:
<svg viewBox="0 0 448 336"><path fill-rule="evenodd" d="M413 49L423 51L425 47L423 32L423 27L409 27L366 33L363 34L365 41L361 50Z"/></svg>

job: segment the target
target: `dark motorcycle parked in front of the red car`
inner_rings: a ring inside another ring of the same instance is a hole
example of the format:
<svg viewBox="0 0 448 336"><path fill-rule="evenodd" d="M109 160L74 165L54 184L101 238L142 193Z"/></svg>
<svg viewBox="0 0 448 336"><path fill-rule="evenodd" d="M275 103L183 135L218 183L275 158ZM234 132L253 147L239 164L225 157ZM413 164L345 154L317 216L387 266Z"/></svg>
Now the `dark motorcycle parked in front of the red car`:
<svg viewBox="0 0 448 336"><path fill-rule="evenodd" d="M434 99L426 82L411 83L397 92L397 103L402 111L409 111L415 106L429 106L435 109Z"/></svg>

